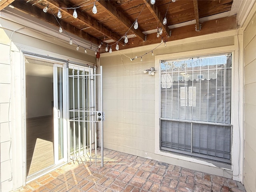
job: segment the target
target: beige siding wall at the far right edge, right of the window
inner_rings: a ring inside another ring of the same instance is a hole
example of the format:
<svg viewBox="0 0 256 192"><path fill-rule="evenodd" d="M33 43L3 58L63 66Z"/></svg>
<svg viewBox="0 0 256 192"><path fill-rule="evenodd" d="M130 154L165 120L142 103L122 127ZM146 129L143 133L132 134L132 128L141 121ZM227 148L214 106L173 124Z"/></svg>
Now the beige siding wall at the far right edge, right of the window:
<svg viewBox="0 0 256 192"><path fill-rule="evenodd" d="M256 191L256 14L244 31L244 186Z"/></svg>

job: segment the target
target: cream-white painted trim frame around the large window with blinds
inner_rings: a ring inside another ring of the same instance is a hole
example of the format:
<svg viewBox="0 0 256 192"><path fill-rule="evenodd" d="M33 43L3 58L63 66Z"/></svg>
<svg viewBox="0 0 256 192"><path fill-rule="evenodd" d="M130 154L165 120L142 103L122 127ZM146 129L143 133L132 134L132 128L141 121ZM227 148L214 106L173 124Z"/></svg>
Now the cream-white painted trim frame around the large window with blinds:
<svg viewBox="0 0 256 192"><path fill-rule="evenodd" d="M155 74L155 149L154 153L162 156L167 156L171 158L176 158L180 160L185 160L189 162L194 162L202 165L222 168L225 170L232 171L232 176L236 177L236 180L240 180L239 177L242 176L242 161L240 160L240 156L243 154L242 151L242 110L239 111L238 115L238 107L241 106L242 97L239 92L239 88L241 89L241 80L239 81L238 77L238 52L235 51L236 46L225 46L218 48L209 48L204 50L194 50L188 52L179 52L172 54L164 54L155 56L155 68L158 71ZM207 56L212 54L221 54L232 52L232 89L231 89L231 124L233 125L231 132L231 166L224 163L214 163L209 160L199 159L195 157L184 156L182 154L175 154L172 152L166 152L160 150L160 62L161 60L176 60L194 56ZM242 79L242 76L240 76ZM238 85L239 84L239 85ZM242 91L242 90L240 90ZM238 120L239 119L239 120Z"/></svg>

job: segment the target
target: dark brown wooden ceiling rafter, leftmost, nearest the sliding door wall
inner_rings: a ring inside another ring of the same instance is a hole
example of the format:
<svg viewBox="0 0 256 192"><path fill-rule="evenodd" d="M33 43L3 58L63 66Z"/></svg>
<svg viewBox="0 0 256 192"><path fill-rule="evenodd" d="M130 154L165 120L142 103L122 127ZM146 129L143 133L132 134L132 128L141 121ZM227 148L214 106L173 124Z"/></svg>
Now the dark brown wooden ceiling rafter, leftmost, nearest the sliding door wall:
<svg viewBox="0 0 256 192"><path fill-rule="evenodd" d="M48 13L44 13L42 10L39 10L38 8L36 8L35 6L31 6L30 4L27 3L23 3L22 1L14 1L12 3L14 5L14 7L17 10L20 10L22 12L26 12L26 13L30 13L30 15L32 16L36 16L38 18L40 18L41 20L44 20L56 27L60 27L58 22L56 21L55 17L52 14L48 14ZM72 34L75 34L76 36L86 39L86 40L90 40L90 42L98 45L100 44L100 40L98 40L97 38L91 36L90 34L83 32L82 30L76 28L75 26L68 24L66 22L61 22L62 28L64 28L67 32L70 32Z"/></svg>

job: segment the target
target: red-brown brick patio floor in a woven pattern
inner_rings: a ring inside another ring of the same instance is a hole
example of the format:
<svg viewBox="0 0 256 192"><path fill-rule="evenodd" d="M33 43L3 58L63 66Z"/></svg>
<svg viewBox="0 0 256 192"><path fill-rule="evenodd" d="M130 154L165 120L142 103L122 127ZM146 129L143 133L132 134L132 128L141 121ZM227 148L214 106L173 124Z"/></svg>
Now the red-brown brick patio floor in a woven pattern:
<svg viewBox="0 0 256 192"><path fill-rule="evenodd" d="M72 162L16 191L245 192L246 190L240 182L232 179L104 149L104 167L100 164L90 166L88 162L87 164Z"/></svg>

